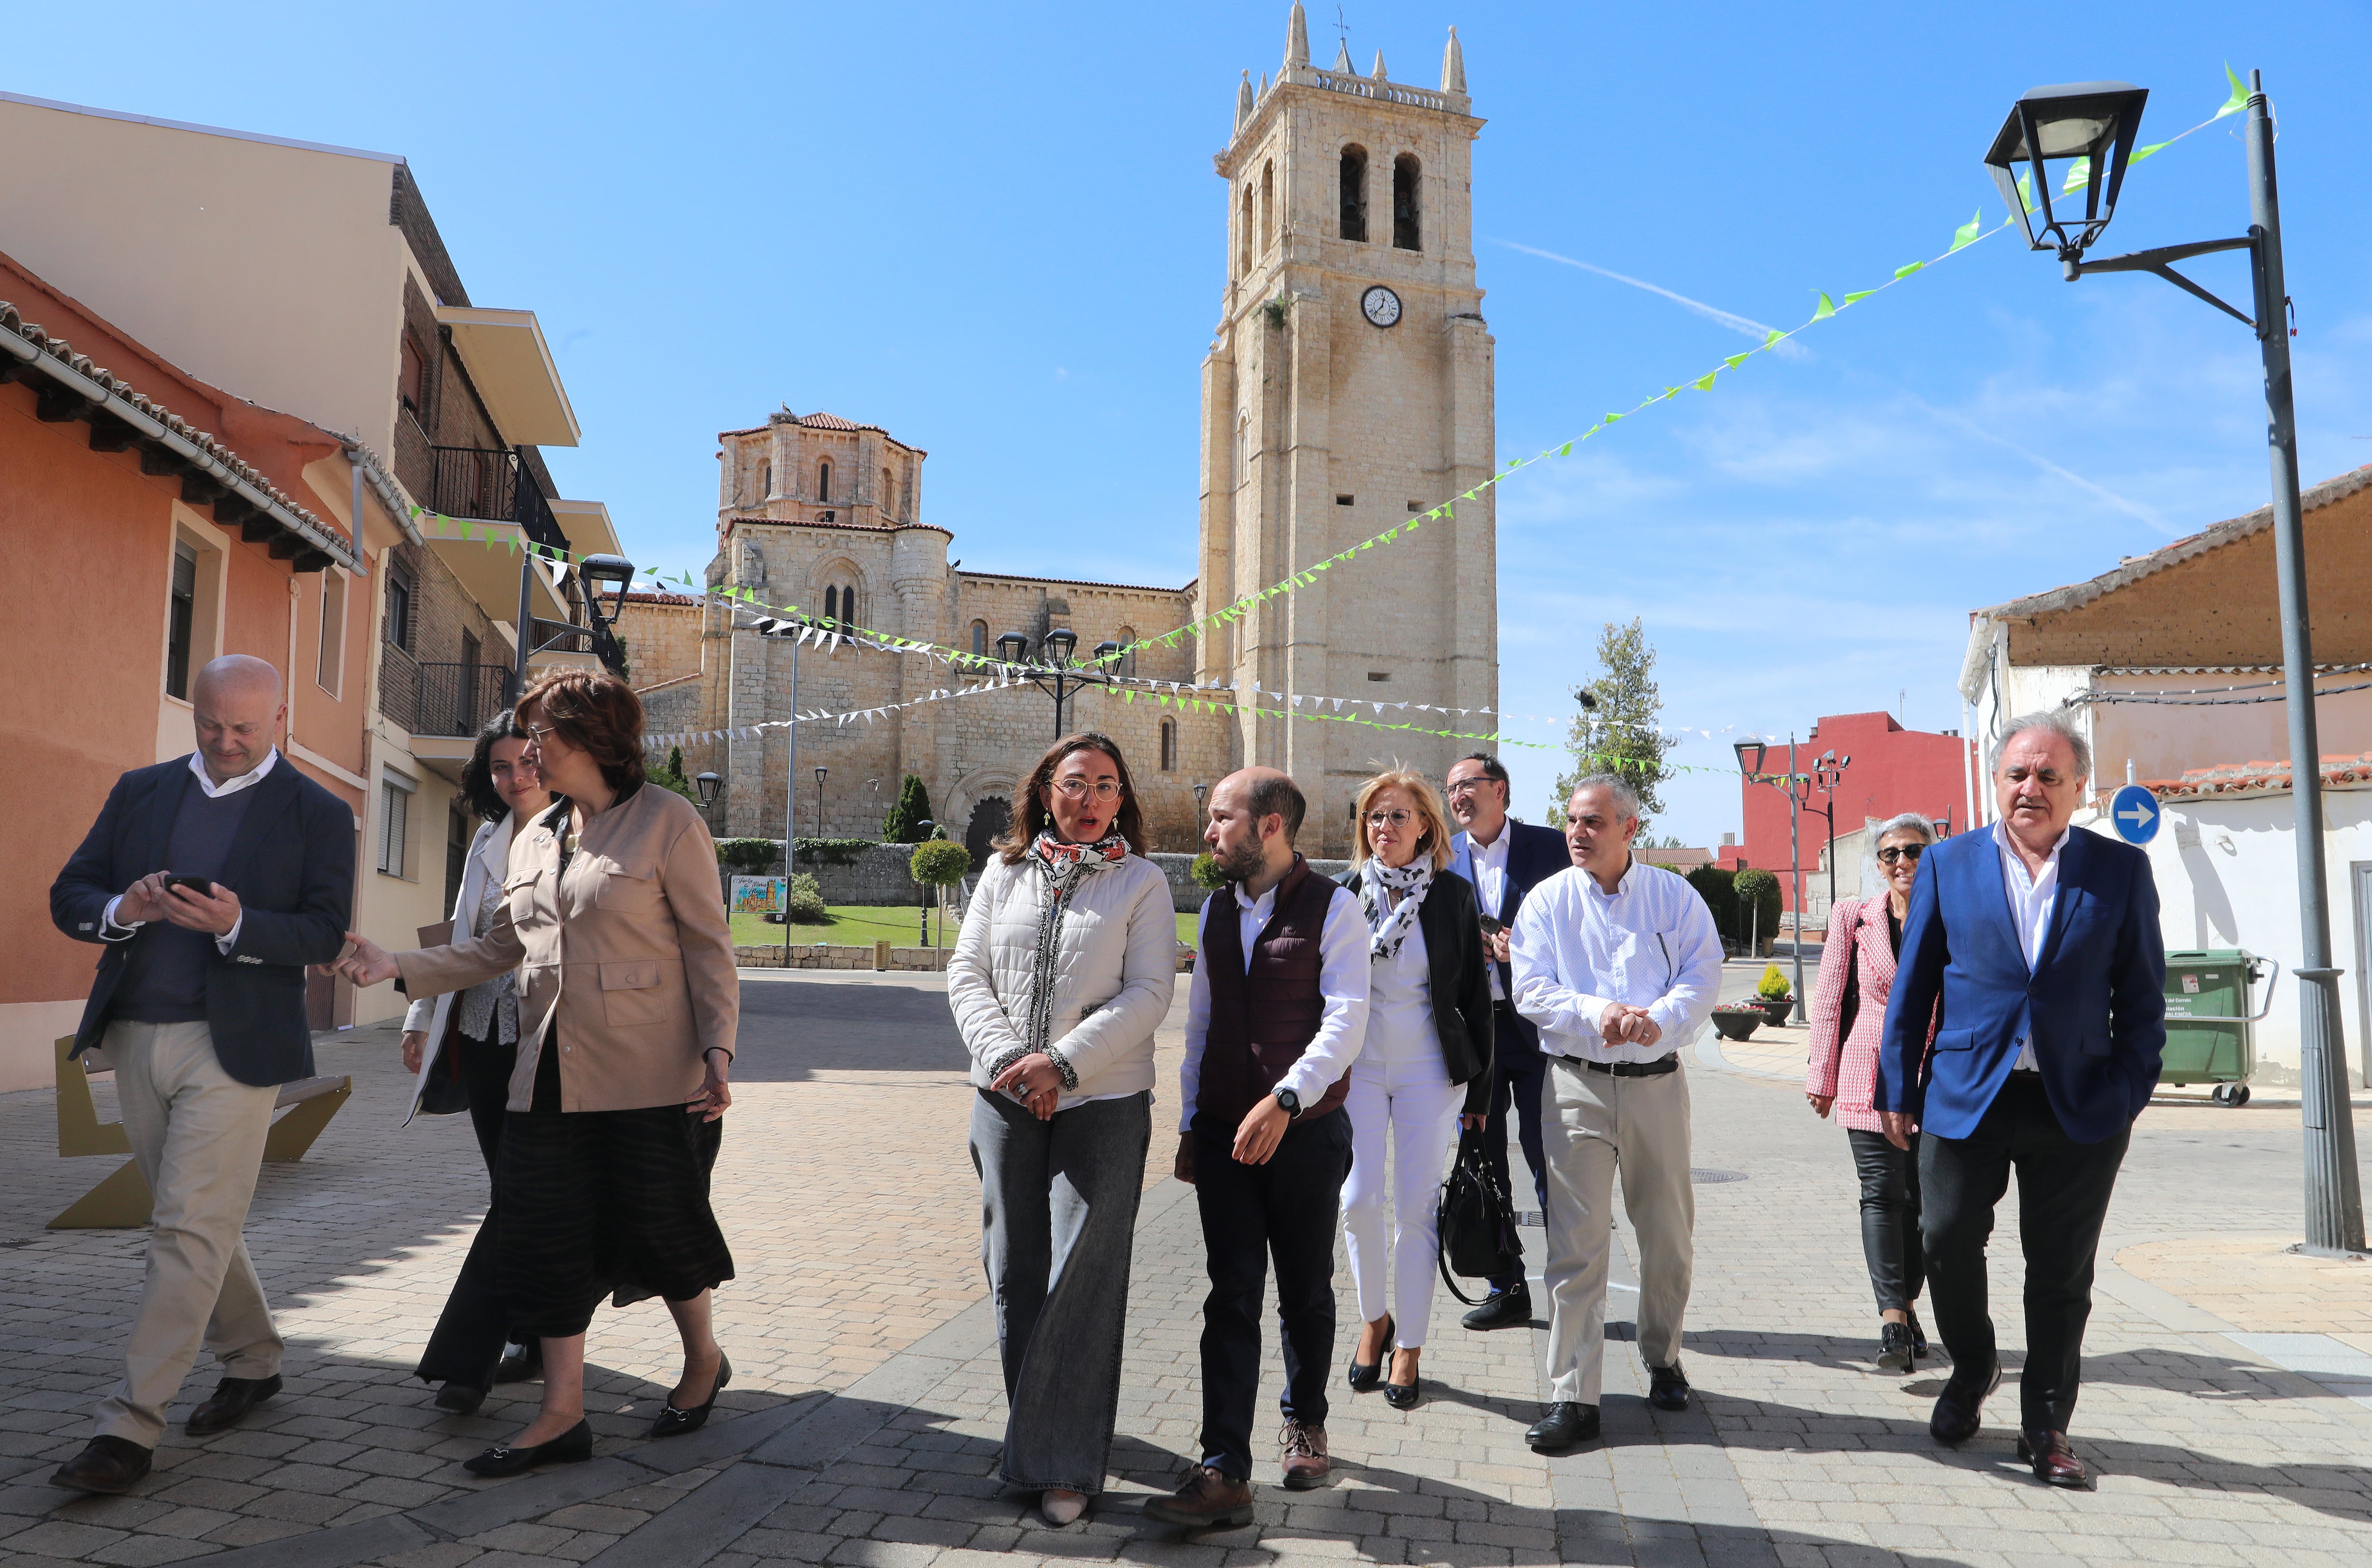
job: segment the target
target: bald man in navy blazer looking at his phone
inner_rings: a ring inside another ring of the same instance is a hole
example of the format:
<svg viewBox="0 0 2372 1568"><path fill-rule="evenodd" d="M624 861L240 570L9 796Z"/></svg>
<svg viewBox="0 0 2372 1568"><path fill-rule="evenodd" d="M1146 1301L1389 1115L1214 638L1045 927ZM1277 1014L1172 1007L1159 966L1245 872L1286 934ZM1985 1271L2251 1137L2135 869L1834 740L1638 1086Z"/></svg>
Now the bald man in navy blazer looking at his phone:
<svg viewBox="0 0 2372 1568"><path fill-rule="evenodd" d="M147 1475L199 1340L223 1381L192 1435L280 1392L282 1343L240 1231L278 1086L313 1072L306 965L337 958L353 906L353 811L273 745L280 671L213 659L190 707L197 752L121 776L50 887L57 928L104 946L74 1056L116 1072L154 1196L123 1383L52 1478L83 1492Z"/></svg>

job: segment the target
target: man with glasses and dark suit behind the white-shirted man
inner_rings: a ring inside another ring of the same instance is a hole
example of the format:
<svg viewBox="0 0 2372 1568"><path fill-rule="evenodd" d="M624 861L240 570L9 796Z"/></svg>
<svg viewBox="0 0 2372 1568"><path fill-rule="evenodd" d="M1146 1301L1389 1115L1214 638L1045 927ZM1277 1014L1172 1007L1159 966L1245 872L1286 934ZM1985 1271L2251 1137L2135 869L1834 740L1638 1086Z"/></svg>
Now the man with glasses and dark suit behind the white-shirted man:
<svg viewBox="0 0 2372 1568"><path fill-rule="evenodd" d="M1492 1046L1490 1122L1482 1127L1482 1139L1492 1169L1513 1191L1506 1174L1506 1113L1513 1105L1523 1160L1532 1167L1532 1193L1547 1212L1549 1160L1539 1146L1539 1089L1549 1058L1539 1053L1539 1030L1509 1001L1516 987L1509 973L1506 932L1516 925L1523 894L1570 866L1573 856L1566 852L1566 835L1518 823L1506 814L1506 769L1490 752L1461 757L1449 769L1447 795L1449 814L1459 818L1461 828L1449 840L1449 868L1473 882L1475 904L1487 920L1497 923L1497 932L1487 937L1492 1039L1497 1044ZM1490 1300L1464 1319L1468 1328L1511 1328L1530 1321L1532 1288L1525 1283L1523 1269L1490 1281Z"/></svg>

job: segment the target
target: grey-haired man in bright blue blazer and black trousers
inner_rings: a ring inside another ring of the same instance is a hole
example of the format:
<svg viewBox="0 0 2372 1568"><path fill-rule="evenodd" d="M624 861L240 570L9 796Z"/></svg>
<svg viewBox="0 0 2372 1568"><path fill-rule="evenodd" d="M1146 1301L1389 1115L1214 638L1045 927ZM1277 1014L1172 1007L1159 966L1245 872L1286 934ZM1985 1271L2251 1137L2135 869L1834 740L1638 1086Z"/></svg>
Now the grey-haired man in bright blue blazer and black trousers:
<svg viewBox="0 0 2372 1568"><path fill-rule="evenodd" d="M2166 1048L2159 885L2140 849L2068 828L2090 776L2092 747L2066 716L2009 721L1995 826L1928 849L1912 885L1874 1098L1898 1148L1919 1136L1928 1300L1955 1359L1928 1421L1938 1442L1974 1438L2002 1383L1985 1238L2019 1177L2019 1459L2059 1487L2092 1483L2068 1447L2092 1260Z"/></svg>

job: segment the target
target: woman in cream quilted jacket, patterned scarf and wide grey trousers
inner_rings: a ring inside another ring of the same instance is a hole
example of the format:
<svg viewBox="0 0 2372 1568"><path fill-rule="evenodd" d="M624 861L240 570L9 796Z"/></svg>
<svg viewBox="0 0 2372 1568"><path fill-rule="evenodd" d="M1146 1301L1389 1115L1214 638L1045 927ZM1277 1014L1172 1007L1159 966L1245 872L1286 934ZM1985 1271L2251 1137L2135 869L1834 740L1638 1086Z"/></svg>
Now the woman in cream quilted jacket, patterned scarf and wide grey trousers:
<svg viewBox="0 0 2372 1568"><path fill-rule="evenodd" d="M1010 1409L1003 1478L1067 1525L1103 1492L1112 1452L1177 913L1108 735L1058 740L1015 807L963 916L946 999L980 1089L973 1167Z"/></svg>

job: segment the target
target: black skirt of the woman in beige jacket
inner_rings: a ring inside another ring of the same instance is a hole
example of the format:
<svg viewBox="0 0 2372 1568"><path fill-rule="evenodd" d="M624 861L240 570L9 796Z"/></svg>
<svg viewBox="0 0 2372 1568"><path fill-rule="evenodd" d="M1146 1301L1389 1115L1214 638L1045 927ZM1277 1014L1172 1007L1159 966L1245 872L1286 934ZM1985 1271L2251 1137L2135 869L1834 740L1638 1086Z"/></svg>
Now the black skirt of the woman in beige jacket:
<svg viewBox="0 0 2372 1568"><path fill-rule="evenodd" d="M709 1210L723 1122L683 1105L560 1110L550 1034L529 1110L512 1110L496 1165L500 1288L512 1333L569 1338L600 1298L671 1302L733 1279Z"/></svg>

